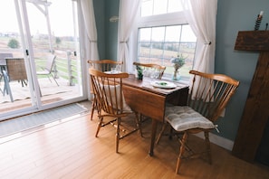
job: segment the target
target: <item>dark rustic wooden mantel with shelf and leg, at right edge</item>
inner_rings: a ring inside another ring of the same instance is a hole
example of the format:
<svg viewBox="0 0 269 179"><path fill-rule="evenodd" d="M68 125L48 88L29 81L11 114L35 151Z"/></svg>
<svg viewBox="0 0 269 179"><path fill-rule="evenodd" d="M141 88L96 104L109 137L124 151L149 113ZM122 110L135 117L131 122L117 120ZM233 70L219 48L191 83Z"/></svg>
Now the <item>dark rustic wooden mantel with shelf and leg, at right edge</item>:
<svg viewBox="0 0 269 179"><path fill-rule="evenodd" d="M235 50L260 53L233 148L233 155L253 162L269 117L269 31L239 32Z"/></svg>

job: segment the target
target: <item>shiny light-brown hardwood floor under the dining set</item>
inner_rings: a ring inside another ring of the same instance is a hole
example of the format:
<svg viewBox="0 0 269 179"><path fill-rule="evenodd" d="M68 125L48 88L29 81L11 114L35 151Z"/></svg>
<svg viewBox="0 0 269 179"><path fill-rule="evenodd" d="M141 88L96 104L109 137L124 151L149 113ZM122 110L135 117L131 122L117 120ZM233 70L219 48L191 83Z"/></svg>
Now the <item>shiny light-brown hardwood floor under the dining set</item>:
<svg viewBox="0 0 269 179"><path fill-rule="evenodd" d="M72 118L2 143L0 178L269 178L268 166L246 163L214 144L212 165L187 160L175 174L178 143L162 137L150 157L149 120L143 123L144 137L138 132L120 140L116 154L115 128L101 128L100 136L94 137L98 120L90 118L90 114ZM190 137L190 144L201 142Z"/></svg>

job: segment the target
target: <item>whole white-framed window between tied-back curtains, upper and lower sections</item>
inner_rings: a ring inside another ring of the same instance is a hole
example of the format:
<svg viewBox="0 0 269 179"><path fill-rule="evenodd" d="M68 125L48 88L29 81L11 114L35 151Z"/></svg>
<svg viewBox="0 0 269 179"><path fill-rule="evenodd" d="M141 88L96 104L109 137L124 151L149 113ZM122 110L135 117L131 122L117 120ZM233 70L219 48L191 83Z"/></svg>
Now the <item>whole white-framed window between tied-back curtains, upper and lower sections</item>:
<svg viewBox="0 0 269 179"><path fill-rule="evenodd" d="M183 56L181 76L192 69L197 37L187 24L178 0L143 0L138 36L138 61L167 67L164 77L173 74L172 58Z"/></svg>

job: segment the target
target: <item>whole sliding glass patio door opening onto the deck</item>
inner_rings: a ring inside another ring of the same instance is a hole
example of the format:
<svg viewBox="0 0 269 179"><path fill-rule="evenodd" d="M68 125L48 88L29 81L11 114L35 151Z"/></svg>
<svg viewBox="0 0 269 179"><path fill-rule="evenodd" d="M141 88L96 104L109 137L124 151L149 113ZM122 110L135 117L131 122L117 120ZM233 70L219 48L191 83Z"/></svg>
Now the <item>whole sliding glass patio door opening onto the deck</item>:
<svg viewBox="0 0 269 179"><path fill-rule="evenodd" d="M25 72L24 78L13 80L11 68L0 66L7 67L9 78L5 81L1 71L0 119L85 99L77 2L0 1L0 8L0 23L6 24L0 27L0 62L20 59Z"/></svg>

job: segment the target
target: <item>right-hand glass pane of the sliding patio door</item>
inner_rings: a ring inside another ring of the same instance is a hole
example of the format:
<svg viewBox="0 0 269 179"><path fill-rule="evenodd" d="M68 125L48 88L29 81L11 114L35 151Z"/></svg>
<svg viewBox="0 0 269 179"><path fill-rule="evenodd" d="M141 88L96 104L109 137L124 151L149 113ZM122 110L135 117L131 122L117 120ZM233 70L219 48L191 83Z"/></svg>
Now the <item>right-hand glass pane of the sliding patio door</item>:
<svg viewBox="0 0 269 179"><path fill-rule="evenodd" d="M75 1L50 0L40 5L42 8L34 3L27 1L26 7L42 105L82 97L78 24L73 16L77 14ZM43 14L41 9L47 13ZM55 60L50 58L51 54ZM42 74L44 68L50 70L47 75ZM57 98L48 99L55 91L59 91Z"/></svg>

